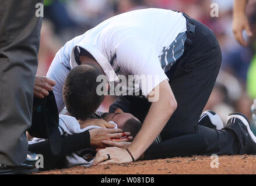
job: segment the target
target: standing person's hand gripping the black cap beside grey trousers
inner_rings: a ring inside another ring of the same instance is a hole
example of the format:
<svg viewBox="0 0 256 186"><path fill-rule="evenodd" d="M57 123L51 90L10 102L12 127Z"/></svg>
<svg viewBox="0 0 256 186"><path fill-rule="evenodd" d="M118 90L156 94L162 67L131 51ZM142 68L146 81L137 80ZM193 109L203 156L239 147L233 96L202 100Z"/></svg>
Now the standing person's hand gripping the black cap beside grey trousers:
<svg viewBox="0 0 256 186"><path fill-rule="evenodd" d="M48 96L48 91L52 91L52 87L54 85L54 80L44 76L36 75L36 80L34 82L34 96L36 98L44 98L44 96Z"/></svg>

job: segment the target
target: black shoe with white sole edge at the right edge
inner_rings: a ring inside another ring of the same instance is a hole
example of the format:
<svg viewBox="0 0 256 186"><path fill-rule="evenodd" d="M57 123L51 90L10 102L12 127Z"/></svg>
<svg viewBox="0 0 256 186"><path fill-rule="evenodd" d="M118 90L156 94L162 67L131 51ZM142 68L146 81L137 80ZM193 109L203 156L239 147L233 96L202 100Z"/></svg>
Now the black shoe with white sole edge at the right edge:
<svg viewBox="0 0 256 186"><path fill-rule="evenodd" d="M251 131L250 123L241 113L230 113L227 117L227 130L232 130L239 138L240 154L256 154L256 137Z"/></svg>

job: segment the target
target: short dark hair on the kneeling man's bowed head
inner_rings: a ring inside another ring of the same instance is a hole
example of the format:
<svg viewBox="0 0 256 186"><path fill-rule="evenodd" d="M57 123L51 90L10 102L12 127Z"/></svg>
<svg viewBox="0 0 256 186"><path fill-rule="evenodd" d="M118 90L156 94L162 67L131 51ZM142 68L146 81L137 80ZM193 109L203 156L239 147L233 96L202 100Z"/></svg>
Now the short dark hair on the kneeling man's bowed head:
<svg viewBox="0 0 256 186"><path fill-rule="evenodd" d="M63 98L69 114L86 120L103 102L104 95L97 95L97 76L103 74L97 65L79 65L66 76Z"/></svg>

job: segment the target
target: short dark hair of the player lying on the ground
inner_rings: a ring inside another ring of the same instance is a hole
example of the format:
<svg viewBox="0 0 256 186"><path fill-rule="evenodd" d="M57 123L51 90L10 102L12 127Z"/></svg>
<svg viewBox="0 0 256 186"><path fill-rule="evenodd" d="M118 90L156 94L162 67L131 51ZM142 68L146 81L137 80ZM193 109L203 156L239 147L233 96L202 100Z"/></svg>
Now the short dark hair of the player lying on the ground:
<svg viewBox="0 0 256 186"><path fill-rule="evenodd" d="M131 133L131 136L135 137L139 133L139 130L141 130L141 126L141 121L136 120L134 117L132 117L131 119L125 121L121 129L122 131Z"/></svg>

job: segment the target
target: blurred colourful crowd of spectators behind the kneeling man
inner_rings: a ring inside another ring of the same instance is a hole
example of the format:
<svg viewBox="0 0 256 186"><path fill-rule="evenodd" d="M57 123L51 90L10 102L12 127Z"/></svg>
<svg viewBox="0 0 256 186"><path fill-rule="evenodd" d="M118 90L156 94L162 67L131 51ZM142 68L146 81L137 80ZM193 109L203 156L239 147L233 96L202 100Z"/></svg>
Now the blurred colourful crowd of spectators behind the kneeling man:
<svg viewBox="0 0 256 186"><path fill-rule="evenodd" d="M239 45L233 36L233 0L44 0L44 3L37 74L45 76L55 53L66 41L108 17L150 7L180 10L211 28L222 48L222 67L205 110L215 111L225 123L230 112L241 112L251 119L251 105L256 97L256 0L250 0L246 10L254 33L248 47ZM219 17L211 17L212 3L217 3ZM113 100L108 97L99 109L107 112Z"/></svg>

